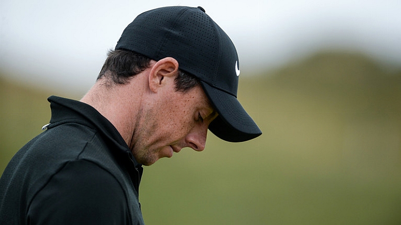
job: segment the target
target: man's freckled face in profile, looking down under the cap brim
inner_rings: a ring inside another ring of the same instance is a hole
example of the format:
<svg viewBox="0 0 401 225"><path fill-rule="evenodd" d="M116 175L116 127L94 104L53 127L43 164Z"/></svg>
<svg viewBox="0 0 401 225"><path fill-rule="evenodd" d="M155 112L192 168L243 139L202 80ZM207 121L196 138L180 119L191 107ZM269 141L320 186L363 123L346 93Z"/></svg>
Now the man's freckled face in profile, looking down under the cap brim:
<svg viewBox="0 0 401 225"><path fill-rule="evenodd" d="M183 147L203 151L207 128L217 116L201 86L188 92L175 91L173 86L165 90L150 109L140 113L130 146L135 159L145 166L170 158Z"/></svg>

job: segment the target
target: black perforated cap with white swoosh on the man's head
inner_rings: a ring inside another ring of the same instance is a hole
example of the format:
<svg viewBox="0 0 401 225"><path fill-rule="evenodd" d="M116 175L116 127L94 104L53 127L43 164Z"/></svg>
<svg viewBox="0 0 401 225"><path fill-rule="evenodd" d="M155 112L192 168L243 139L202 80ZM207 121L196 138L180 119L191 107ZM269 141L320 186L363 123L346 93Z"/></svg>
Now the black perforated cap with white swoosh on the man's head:
<svg viewBox="0 0 401 225"><path fill-rule="evenodd" d="M217 137L241 142L262 134L237 100L237 50L202 7L163 7L142 13L124 30L116 49L156 61L173 57L181 70L197 77L219 114L209 125Z"/></svg>

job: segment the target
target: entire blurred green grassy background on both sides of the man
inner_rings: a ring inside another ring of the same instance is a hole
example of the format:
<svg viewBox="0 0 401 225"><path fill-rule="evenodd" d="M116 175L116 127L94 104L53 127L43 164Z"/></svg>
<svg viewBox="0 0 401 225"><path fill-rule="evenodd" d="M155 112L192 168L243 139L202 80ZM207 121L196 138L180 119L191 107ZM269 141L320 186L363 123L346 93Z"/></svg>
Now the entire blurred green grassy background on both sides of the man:
<svg viewBox="0 0 401 225"><path fill-rule="evenodd" d="M0 94L3 172L48 123L46 98L57 93L2 74ZM147 224L401 224L400 71L319 52L240 77L239 99L262 136L229 143L209 133L205 151L145 167Z"/></svg>

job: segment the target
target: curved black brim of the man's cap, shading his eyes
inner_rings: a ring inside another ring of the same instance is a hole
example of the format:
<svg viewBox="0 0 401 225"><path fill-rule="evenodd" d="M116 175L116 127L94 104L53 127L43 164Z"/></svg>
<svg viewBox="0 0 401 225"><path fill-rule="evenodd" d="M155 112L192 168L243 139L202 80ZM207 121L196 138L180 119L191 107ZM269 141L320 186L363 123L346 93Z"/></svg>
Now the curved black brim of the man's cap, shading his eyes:
<svg viewBox="0 0 401 225"><path fill-rule="evenodd" d="M226 141L241 142L262 134L235 96L213 88L203 81L201 84L218 112L217 118L209 125L209 130L214 135Z"/></svg>

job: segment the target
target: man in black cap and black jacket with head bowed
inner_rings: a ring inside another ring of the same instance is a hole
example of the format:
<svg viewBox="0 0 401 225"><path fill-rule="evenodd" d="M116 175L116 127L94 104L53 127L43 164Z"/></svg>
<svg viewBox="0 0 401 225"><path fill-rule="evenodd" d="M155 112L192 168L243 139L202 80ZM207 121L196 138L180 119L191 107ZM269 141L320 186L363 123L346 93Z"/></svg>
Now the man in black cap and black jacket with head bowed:
<svg viewBox="0 0 401 225"><path fill-rule="evenodd" d="M232 142L261 134L237 100L239 74L202 8L139 15L81 101L49 97L50 123L0 180L0 224L144 224L142 165L202 151L207 129Z"/></svg>

